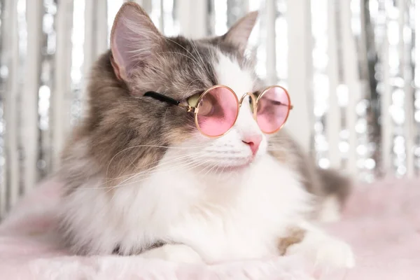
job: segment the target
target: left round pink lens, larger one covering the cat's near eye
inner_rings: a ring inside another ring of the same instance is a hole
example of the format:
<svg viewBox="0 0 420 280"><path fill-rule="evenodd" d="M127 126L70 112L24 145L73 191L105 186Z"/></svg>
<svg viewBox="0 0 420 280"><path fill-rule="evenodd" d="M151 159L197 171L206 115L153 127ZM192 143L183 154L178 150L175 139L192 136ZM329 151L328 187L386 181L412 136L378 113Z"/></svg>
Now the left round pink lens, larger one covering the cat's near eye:
<svg viewBox="0 0 420 280"><path fill-rule="evenodd" d="M227 87L215 87L206 92L197 105L197 125L202 133L218 137L230 130L237 114L235 93Z"/></svg>

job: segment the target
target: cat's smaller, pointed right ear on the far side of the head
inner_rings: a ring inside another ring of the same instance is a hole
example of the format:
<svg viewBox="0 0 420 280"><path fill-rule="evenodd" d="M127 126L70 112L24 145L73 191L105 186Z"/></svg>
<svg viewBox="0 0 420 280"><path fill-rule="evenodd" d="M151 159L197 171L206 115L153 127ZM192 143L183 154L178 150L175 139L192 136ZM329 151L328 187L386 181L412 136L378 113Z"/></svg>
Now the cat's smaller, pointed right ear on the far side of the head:
<svg viewBox="0 0 420 280"><path fill-rule="evenodd" d="M245 50L248 44L248 38L251 31L257 22L258 11L248 13L243 18L238 20L235 25L230 27L228 33L223 35L223 40L237 46L241 50Z"/></svg>

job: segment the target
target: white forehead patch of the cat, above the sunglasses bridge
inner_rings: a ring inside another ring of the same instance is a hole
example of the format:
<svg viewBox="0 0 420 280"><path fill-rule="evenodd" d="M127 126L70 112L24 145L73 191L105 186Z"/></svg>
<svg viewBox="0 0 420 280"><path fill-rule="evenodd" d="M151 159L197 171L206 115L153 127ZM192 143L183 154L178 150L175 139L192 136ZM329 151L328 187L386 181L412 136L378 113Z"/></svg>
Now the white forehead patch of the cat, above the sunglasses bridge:
<svg viewBox="0 0 420 280"><path fill-rule="evenodd" d="M241 98L246 92L253 90L253 76L251 71L241 69L236 59L218 53L218 62L214 66L218 83L232 88Z"/></svg>

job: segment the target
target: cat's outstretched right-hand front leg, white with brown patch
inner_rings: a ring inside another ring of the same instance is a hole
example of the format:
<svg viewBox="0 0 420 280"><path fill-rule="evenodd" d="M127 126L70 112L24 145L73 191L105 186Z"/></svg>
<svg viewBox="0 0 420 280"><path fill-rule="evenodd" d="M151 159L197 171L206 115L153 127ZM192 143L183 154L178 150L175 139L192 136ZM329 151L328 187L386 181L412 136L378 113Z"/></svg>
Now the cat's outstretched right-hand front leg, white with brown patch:
<svg viewBox="0 0 420 280"><path fill-rule="evenodd" d="M302 255L315 265L323 267L354 267L353 251L346 242L331 237L309 223L301 223L292 233L295 236L294 239L293 237L286 238L286 240L294 241L285 248L286 255Z"/></svg>

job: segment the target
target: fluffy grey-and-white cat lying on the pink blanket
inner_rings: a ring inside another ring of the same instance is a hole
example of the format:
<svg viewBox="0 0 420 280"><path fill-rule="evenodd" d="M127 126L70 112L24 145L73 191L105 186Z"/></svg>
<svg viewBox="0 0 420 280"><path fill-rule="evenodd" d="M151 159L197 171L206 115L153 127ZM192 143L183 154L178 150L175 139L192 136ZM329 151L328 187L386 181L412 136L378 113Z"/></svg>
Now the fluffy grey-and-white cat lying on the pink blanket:
<svg viewBox="0 0 420 280"><path fill-rule="evenodd" d="M193 114L144 96L186 104L216 84L239 96L260 90L245 55L257 17L248 13L223 36L167 38L138 4L123 4L111 50L93 66L87 112L62 153L58 230L73 253L207 264L299 254L354 265L348 244L311 224L307 189L322 176L308 183L317 171L300 163L285 130L263 134L244 102L228 133L205 137Z"/></svg>

